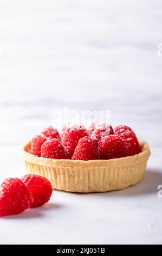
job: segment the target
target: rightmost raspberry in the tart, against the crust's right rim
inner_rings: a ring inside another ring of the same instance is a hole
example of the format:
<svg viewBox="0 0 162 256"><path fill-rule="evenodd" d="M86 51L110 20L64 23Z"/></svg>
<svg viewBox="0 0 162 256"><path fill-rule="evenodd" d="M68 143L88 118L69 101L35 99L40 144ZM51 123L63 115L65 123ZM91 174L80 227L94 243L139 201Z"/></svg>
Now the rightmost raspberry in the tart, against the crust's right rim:
<svg viewBox="0 0 162 256"><path fill-rule="evenodd" d="M126 131L120 136L124 139L126 156L133 156L141 152L138 139L133 131Z"/></svg>

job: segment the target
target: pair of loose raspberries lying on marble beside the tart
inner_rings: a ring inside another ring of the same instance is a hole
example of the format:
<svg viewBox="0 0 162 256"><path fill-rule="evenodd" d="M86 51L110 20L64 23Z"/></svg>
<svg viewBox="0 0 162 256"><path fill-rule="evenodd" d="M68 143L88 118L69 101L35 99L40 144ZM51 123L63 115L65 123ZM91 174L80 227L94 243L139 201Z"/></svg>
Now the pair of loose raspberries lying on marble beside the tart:
<svg viewBox="0 0 162 256"><path fill-rule="evenodd" d="M21 179L5 179L0 186L0 216L20 214L46 204L52 194L48 179L28 174Z"/></svg>

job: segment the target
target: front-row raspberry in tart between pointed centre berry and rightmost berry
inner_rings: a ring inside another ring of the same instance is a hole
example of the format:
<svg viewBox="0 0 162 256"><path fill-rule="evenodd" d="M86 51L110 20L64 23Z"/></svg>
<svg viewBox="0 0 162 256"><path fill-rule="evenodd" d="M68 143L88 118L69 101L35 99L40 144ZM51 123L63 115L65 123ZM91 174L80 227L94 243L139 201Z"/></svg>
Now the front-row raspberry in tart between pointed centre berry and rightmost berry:
<svg viewBox="0 0 162 256"><path fill-rule="evenodd" d="M103 160L124 157L126 154L124 140L119 135L102 137L99 141L98 153Z"/></svg>

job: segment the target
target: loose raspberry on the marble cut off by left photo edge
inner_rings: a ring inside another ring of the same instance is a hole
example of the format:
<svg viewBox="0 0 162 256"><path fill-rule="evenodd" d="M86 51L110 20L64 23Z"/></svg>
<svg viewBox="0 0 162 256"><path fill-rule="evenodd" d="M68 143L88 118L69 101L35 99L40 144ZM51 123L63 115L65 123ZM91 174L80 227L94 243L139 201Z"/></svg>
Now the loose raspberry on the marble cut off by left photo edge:
<svg viewBox="0 0 162 256"><path fill-rule="evenodd" d="M33 201L33 194L20 179L5 179L0 187L0 216L20 214Z"/></svg>

